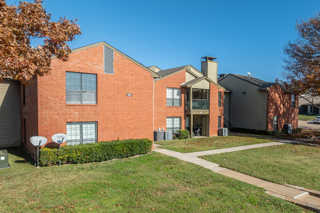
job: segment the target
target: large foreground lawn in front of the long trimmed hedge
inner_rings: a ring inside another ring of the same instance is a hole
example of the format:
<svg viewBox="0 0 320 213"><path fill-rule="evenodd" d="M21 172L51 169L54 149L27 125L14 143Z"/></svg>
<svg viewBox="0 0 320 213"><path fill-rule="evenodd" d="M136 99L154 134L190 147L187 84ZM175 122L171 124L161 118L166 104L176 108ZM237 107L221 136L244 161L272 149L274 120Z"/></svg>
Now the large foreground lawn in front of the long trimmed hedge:
<svg viewBox="0 0 320 213"><path fill-rule="evenodd" d="M35 168L21 148L0 170L0 212L305 212L265 190L152 153Z"/></svg>

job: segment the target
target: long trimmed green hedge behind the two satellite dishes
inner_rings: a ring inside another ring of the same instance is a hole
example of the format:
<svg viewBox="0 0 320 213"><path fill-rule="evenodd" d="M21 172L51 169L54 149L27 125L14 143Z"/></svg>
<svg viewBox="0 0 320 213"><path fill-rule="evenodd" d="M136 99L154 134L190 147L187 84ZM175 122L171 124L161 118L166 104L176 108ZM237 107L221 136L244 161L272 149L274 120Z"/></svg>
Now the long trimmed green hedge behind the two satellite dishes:
<svg viewBox="0 0 320 213"><path fill-rule="evenodd" d="M149 139L128 139L101 141L79 145L65 145L59 148L42 148L39 150L39 165L83 164L107 161L147 154L151 151L152 141Z"/></svg>

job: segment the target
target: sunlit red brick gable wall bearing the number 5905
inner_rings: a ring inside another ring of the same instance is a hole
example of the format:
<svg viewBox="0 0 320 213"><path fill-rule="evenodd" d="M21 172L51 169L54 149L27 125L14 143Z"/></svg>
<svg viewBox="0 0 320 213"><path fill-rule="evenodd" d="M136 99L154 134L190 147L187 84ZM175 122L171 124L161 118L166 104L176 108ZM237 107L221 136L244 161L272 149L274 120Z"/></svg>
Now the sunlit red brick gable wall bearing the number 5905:
<svg viewBox="0 0 320 213"><path fill-rule="evenodd" d="M51 75L37 80L38 135L48 139L46 147L57 146L51 136L66 133L67 122L97 121L98 141L153 139L150 72L115 52L114 74L104 74L103 45L69 56L68 62L52 59ZM66 71L97 74L97 104L66 104Z"/></svg>

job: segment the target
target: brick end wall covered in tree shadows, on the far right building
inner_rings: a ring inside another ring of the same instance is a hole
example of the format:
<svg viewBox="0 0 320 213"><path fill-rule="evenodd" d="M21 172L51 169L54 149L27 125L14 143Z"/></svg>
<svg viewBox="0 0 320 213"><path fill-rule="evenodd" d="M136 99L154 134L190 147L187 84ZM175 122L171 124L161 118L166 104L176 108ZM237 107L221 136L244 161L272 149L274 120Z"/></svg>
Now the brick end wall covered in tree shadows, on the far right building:
<svg viewBox="0 0 320 213"><path fill-rule="evenodd" d="M269 88L267 130L273 130L273 116L278 116L279 130L284 124L298 128L298 95L295 101L295 107L291 107L291 93L285 93L277 84Z"/></svg>

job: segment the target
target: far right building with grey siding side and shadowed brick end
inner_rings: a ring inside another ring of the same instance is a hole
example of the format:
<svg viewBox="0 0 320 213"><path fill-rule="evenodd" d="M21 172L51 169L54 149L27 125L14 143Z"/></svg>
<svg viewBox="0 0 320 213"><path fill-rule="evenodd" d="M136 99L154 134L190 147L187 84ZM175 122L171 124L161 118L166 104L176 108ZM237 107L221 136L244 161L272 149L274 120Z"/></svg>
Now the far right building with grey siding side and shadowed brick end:
<svg viewBox="0 0 320 213"><path fill-rule="evenodd" d="M298 128L299 99L284 85L237 74L218 82L227 90L224 118L232 127L282 130L284 124L292 124L292 129Z"/></svg>

